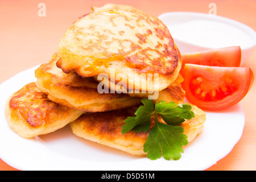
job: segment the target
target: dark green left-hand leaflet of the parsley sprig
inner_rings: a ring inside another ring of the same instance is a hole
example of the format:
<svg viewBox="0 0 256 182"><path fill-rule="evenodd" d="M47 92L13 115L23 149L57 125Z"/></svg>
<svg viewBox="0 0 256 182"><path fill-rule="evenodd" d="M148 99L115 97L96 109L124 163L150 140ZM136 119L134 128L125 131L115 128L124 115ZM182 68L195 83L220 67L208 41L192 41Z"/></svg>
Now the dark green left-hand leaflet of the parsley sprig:
<svg viewBox="0 0 256 182"><path fill-rule="evenodd" d="M122 126L122 134L133 129L134 132L146 132L150 129L150 117L153 114L154 104L152 100L143 98L141 100L143 106L139 106L135 112L135 117L127 117L125 119L126 125Z"/></svg>

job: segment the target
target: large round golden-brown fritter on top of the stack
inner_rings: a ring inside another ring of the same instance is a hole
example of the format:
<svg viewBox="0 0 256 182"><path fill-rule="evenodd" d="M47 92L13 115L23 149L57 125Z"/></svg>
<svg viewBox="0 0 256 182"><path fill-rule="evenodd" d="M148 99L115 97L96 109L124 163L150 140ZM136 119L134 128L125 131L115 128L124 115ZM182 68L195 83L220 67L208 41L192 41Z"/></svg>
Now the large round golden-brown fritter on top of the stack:
<svg viewBox="0 0 256 182"><path fill-rule="evenodd" d="M161 20L125 5L92 10L65 32L57 48L57 67L82 77L104 73L115 80L120 74L127 86L145 91L163 90L176 80L181 55ZM150 85L145 88L138 80Z"/></svg>

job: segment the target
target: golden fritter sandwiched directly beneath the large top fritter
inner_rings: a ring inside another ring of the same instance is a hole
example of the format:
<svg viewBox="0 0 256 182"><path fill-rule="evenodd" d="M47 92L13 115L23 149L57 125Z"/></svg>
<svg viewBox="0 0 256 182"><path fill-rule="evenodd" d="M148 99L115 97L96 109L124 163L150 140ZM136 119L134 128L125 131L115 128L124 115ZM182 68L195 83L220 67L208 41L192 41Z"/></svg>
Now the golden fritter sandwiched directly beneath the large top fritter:
<svg viewBox="0 0 256 182"><path fill-rule="evenodd" d="M123 109L141 104L141 98L125 93L99 93L98 82L90 77L81 77L75 72L64 73L56 67L59 56L40 65L35 71L36 85L58 104L88 112L102 112Z"/></svg>

